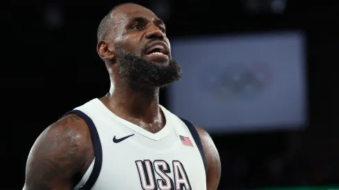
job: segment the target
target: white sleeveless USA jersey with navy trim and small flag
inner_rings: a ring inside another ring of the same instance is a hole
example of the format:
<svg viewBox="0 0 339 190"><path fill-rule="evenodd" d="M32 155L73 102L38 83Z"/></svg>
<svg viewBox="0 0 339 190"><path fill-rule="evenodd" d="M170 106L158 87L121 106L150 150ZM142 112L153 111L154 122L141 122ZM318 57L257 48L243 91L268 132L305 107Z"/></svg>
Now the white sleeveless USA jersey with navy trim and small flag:
<svg viewBox="0 0 339 190"><path fill-rule="evenodd" d="M93 99L75 108L91 131L95 158L81 190L206 190L205 155L194 126L161 106L158 133L123 120Z"/></svg>

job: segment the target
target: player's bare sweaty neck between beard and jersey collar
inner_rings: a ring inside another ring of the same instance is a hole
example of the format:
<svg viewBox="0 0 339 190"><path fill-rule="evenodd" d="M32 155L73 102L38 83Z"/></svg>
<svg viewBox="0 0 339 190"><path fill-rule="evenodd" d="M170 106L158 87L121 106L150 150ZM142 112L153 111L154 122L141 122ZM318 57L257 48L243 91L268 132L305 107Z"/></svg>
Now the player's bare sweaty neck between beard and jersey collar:
<svg viewBox="0 0 339 190"><path fill-rule="evenodd" d="M150 124L161 119L158 95L159 88L133 90L129 86L112 82L109 93L102 98L102 102L119 117Z"/></svg>

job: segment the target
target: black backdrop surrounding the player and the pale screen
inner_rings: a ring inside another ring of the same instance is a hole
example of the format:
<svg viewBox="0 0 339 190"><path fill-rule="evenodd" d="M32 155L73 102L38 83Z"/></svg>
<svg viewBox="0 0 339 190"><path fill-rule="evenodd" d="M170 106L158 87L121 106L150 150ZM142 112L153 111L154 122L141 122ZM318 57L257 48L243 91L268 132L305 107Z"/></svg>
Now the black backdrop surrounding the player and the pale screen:
<svg viewBox="0 0 339 190"><path fill-rule="evenodd" d="M134 2L161 15L155 5L165 1ZM302 131L212 135L222 162L219 189L339 184L339 1L287 1L281 14L267 6L271 1L260 2L254 11L246 1L167 1L163 12L170 38L291 29L306 34L309 124ZM11 56L1 66L1 189L22 189L27 155L44 128L109 90L96 32L122 1L10 3L1 11L11 33L3 44ZM166 99L162 91L161 104Z"/></svg>

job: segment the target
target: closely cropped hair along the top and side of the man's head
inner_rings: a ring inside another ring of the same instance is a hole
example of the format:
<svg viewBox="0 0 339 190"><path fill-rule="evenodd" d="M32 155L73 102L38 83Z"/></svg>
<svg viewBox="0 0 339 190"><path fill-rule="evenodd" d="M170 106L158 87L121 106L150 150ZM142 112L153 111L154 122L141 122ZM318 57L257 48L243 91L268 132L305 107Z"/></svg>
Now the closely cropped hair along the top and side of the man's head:
<svg viewBox="0 0 339 190"><path fill-rule="evenodd" d="M117 6L113 7L109 11L109 13L106 16L104 16L104 18L100 22L100 25L98 27L98 33L97 33L98 41L107 37L107 33L109 32L109 29L113 28L114 18L116 17L116 15L118 15L118 13L123 13L125 10L130 10L130 9L133 9L133 8L142 8L142 9L149 10L149 9L147 9L143 6L140 6L136 3L121 3L121 4L118 4ZM151 11L151 10L149 10L149 11Z"/></svg>

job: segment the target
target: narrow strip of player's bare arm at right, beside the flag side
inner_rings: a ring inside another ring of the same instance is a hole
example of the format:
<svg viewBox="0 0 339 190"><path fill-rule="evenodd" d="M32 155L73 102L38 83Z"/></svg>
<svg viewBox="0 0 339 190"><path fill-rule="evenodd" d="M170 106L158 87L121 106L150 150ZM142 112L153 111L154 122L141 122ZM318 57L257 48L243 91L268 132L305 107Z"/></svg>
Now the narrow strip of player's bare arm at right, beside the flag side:
<svg viewBox="0 0 339 190"><path fill-rule="evenodd" d="M196 130L199 133L201 143L203 144L203 151L205 152L207 190L217 190L221 176L221 163L217 147L215 147L212 138L205 130L199 127L196 127Z"/></svg>

